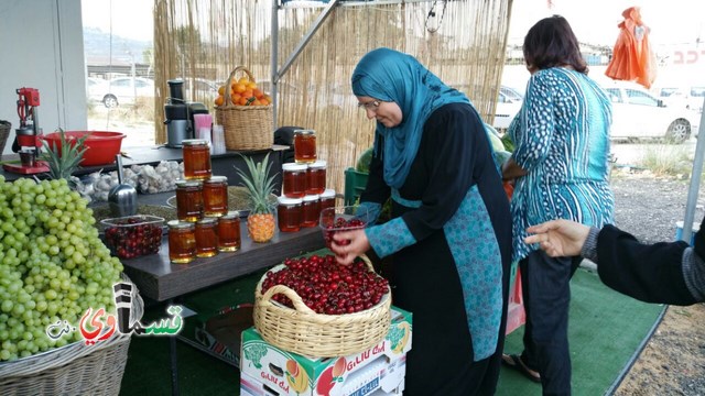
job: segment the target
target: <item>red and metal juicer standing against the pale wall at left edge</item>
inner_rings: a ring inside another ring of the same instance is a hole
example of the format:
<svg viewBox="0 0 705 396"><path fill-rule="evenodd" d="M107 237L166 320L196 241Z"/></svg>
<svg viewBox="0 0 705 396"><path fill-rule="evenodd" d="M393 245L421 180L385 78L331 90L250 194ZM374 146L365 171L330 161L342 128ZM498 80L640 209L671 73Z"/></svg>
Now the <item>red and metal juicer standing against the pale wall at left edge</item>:
<svg viewBox="0 0 705 396"><path fill-rule="evenodd" d="M20 127L14 130L15 138L12 142L12 152L20 154L20 163L3 164L6 170L24 175L48 172L48 166L43 161L37 161L42 147L42 130L37 119L40 106L40 91L35 88L18 88L18 117Z"/></svg>

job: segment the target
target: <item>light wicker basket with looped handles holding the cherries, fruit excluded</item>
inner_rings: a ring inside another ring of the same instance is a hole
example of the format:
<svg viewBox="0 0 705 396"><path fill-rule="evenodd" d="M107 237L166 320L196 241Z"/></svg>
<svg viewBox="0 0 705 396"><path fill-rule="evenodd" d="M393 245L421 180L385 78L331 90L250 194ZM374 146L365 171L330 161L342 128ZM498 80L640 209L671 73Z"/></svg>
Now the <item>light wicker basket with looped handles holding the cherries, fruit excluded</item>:
<svg viewBox="0 0 705 396"><path fill-rule="evenodd" d="M362 256L370 271L370 261ZM280 271L279 265L272 271ZM308 308L291 288L275 285L262 295L262 279L254 290L254 327L262 339L284 351L305 356L334 358L362 352L379 343L391 321L391 295L370 309L348 315L321 315ZM294 309L272 300L289 297Z"/></svg>

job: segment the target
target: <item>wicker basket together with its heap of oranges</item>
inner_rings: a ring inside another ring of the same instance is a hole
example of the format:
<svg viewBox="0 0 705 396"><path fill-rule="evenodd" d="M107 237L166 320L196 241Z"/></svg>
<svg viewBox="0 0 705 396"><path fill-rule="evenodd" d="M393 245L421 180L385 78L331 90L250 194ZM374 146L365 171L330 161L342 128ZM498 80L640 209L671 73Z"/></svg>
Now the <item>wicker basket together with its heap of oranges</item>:
<svg viewBox="0 0 705 396"><path fill-rule="evenodd" d="M241 77L238 77L241 76ZM218 90L216 121L223 125L227 150L268 150L274 140L272 100L257 87L254 76L238 66Z"/></svg>

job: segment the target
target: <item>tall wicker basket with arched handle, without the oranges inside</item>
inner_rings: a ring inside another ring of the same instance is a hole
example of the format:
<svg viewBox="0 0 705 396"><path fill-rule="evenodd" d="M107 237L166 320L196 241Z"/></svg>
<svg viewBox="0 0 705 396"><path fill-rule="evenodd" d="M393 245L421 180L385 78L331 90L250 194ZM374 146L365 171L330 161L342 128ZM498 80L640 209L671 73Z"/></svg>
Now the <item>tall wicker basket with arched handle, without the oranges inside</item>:
<svg viewBox="0 0 705 396"><path fill-rule="evenodd" d="M238 66L226 81L230 87L236 75L245 73L250 81L254 81L252 73L245 66ZM216 121L223 125L225 147L227 150L269 150L274 143L274 121L272 105L239 106L234 105L230 95L224 95L223 106L216 107Z"/></svg>

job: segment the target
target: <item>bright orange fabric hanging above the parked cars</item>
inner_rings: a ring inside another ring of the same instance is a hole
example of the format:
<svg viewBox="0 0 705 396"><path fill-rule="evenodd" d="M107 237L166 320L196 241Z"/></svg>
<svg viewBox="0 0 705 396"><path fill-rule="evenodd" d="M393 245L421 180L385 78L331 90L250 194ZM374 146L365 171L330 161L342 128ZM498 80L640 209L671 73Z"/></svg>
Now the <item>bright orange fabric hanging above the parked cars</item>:
<svg viewBox="0 0 705 396"><path fill-rule="evenodd" d="M650 88L657 78L657 62L649 44L649 26L641 21L639 7L630 7L621 15L625 20L618 25L619 35L605 74Z"/></svg>

